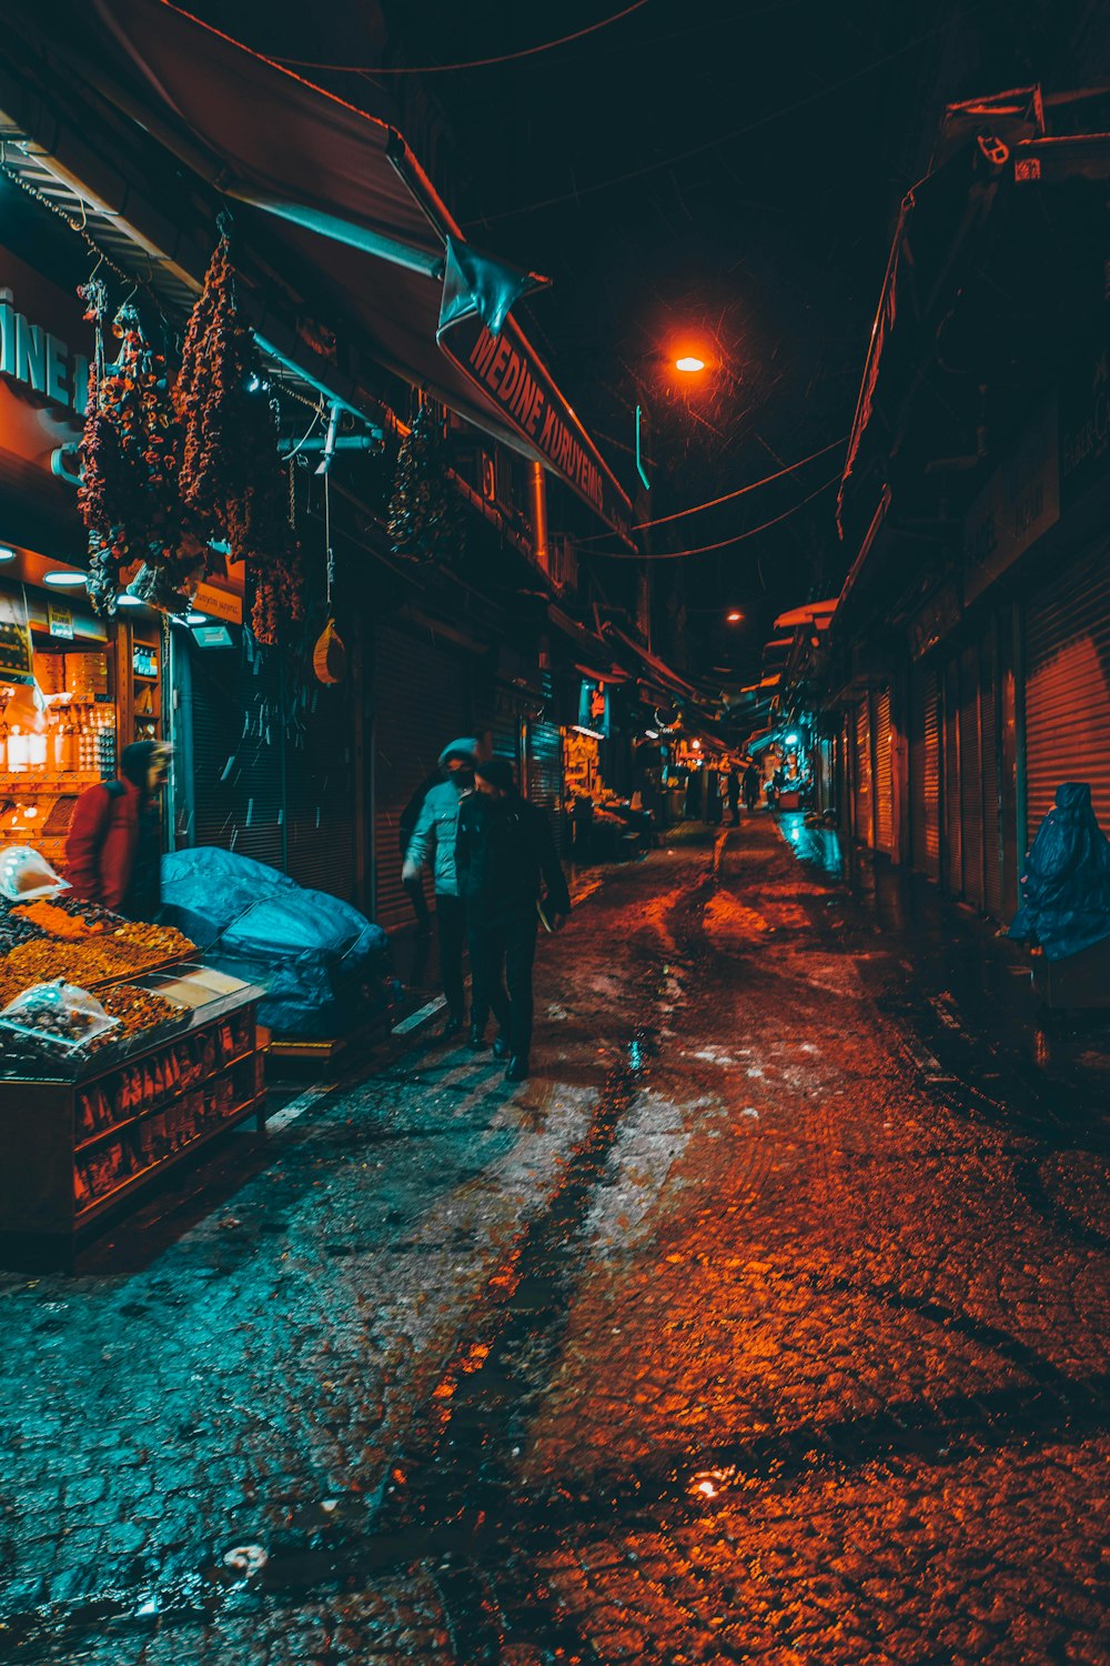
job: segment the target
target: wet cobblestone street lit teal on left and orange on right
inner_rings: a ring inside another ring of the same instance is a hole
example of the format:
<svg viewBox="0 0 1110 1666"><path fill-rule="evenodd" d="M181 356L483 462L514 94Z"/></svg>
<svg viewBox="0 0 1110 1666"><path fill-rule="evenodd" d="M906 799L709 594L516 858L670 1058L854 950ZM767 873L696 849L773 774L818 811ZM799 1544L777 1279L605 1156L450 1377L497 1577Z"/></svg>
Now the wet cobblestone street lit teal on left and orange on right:
<svg viewBox="0 0 1110 1666"><path fill-rule="evenodd" d="M0 1658L1108 1661L1105 1095L932 975L704 835L526 1088L398 1048L5 1278Z"/></svg>

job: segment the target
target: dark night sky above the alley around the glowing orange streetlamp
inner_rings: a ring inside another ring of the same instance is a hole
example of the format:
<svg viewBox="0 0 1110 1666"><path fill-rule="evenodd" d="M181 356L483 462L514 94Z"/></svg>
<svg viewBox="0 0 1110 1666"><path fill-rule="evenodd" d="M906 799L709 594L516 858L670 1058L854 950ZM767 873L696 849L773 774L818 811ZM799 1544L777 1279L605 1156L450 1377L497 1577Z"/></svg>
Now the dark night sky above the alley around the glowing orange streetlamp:
<svg viewBox="0 0 1110 1666"><path fill-rule="evenodd" d="M384 35L373 7L205 10L275 55L411 67L521 52L622 3L383 0ZM651 412L652 513L664 515L847 433L892 218L929 165L944 103L1028 80L1073 85L1090 10L646 0L513 63L303 73L376 112L393 103L471 240L554 280L529 327L629 485L632 413ZM438 117L446 145L434 142ZM709 362L696 385L669 368L684 347ZM834 476L840 455L657 528L656 548L782 515ZM689 606L707 621L722 601L744 606L751 623L732 638L756 650L779 608L835 588L849 565L832 501L824 490L767 533L684 563Z"/></svg>

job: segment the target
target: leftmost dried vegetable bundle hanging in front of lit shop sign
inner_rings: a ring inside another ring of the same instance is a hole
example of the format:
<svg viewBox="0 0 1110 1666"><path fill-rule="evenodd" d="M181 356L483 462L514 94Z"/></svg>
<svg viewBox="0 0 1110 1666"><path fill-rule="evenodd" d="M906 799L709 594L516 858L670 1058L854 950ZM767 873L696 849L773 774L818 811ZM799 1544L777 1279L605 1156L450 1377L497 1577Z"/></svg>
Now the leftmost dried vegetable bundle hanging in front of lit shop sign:
<svg viewBox="0 0 1110 1666"><path fill-rule="evenodd" d="M82 290L97 325L82 440L78 506L88 530L88 593L98 613L115 613L120 588L145 570L150 600L175 588L180 531L178 448L170 372L143 332L136 307L120 307L115 363L103 350L107 293Z"/></svg>

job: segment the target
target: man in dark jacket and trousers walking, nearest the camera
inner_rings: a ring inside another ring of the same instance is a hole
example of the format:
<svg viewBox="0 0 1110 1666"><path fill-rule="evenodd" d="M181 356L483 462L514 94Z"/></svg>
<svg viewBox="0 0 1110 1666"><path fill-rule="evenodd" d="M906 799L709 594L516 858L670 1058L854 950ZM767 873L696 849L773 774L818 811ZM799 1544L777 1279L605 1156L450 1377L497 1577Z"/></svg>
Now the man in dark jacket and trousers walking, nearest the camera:
<svg viewBox="0 0 1110 1666"><path fill-rule="evenodd" d="M456 846L459 896L469 925L471 1046L484 1045L493 1008L501 1028L494 1058L509 1056L506 1081L526 1081L541 883L544 916L554 931L566 923L571 893L551 823L543 810L521 798L513 766L504 758L479 763L474 786L459 805Z"/></svg>

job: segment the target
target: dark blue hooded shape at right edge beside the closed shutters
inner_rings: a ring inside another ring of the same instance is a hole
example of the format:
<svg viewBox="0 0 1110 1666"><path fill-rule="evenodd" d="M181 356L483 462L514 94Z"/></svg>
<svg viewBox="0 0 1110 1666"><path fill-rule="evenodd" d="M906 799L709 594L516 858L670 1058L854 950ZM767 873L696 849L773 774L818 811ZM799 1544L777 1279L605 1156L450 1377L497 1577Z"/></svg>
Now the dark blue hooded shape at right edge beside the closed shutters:
<svg viewBox="0 0 1110 1666"><path fill-rule="evenodd" d="M1047 960L1065 960L1110 938L1110 841L1085 781L1057 786L1055 810L1037 828L1025 858L1022 906L1008 935L1038 943Z"/></svg>

